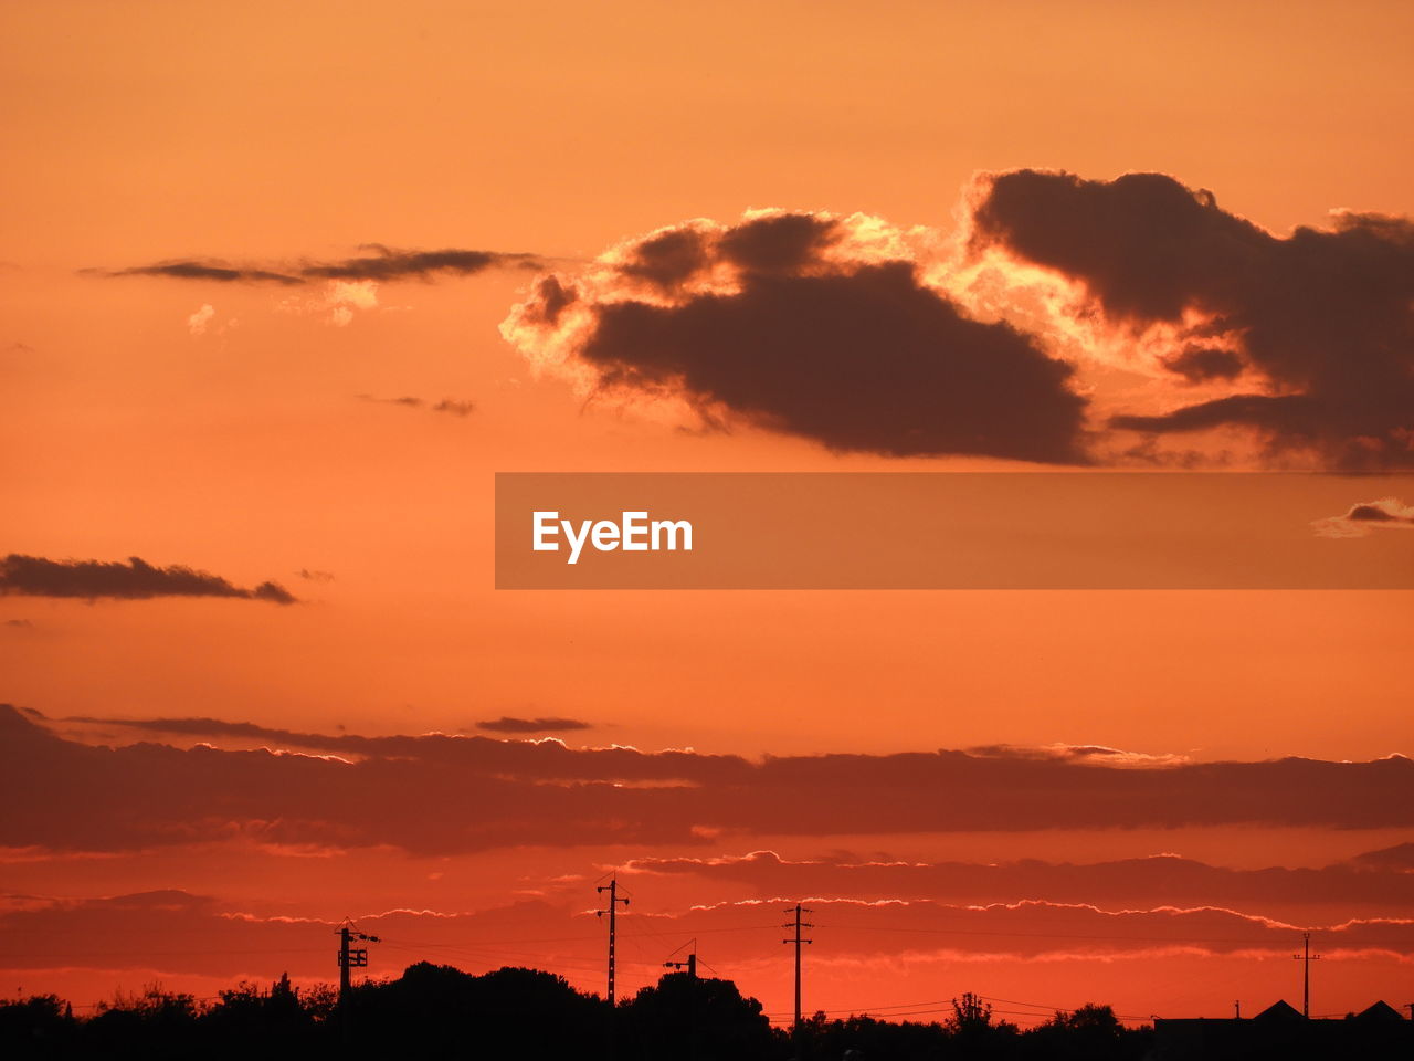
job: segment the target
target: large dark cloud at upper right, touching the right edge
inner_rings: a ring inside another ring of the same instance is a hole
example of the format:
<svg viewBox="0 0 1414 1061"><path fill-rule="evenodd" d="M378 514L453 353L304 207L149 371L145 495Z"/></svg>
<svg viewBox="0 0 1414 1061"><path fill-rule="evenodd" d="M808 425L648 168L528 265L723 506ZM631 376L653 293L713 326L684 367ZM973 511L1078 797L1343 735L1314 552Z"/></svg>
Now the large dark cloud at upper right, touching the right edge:
<svg viewBox="0 0 1414 1061"><path fill-rule="evenodd" d="M1168 368L1233 378L1239 393L1155 416L1140 431L1243 426L1277 451L1340 468L1414 465L1414 224L1348 214L1277 238L1171 177L1087 181L1019 170L990 178L973 248L1001 246L1083 282L1106 317L1189 327ZM1227 345L1215 338L1226 337Z"/></svg>

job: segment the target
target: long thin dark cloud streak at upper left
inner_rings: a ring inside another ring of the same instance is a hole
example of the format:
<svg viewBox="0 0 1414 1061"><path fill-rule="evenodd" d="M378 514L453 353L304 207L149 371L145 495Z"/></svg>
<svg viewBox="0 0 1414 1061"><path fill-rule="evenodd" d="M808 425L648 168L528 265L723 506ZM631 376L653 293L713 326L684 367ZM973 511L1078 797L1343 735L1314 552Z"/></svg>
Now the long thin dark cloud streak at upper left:
<svg viewBox="0 0 1414 1061"><path fill-rule="evenodd" d="M365 243L354 257L303 262L296 266L236 266L214 257L187 257L127 269L83 269L89 276L157 276L170 280L215 280L218 283L303 284L311 280L431 280L437 276L474 276L488 269L540 269L536 255L499 250L416 250Z"/></svg>

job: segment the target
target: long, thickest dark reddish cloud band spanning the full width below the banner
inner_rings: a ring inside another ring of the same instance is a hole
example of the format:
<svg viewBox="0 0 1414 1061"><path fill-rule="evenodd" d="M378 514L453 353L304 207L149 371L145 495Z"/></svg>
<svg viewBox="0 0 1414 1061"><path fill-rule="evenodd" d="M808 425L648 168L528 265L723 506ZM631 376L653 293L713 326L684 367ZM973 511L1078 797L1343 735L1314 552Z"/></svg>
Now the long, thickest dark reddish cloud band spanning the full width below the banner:
<svg viewBox="0 0 1414 1061"><path fill-rule="evenodd" d="M105 720L112 726L112 720ZM151 720L219 736L229 723ZM488 737L283 734L269 750L89 747L0 713L0 845L132 850L223 835L455 853L515 845L700 843L1185 825L1407 828L1414 763L1285 758L1106 767L962 751L793 755L568 748ZM45 792L44 801L27 794ZM963 812L966 809L966 812Z"/></svg>

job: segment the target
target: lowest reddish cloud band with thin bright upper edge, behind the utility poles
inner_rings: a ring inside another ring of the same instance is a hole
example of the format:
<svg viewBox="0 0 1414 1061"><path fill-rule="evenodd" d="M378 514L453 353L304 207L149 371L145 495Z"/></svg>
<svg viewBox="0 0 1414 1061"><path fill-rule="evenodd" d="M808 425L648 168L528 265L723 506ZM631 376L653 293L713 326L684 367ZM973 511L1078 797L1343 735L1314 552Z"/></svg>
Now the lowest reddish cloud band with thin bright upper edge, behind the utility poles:
<svg viewBox="0 0 1414 1061"><path fill-rule="evenodd" d="M642 893L641 893L642 894ZM259 917L211 895L170 888L103 898L4 897L0 931L6 968L148 968L173 973L277 976L329 973L327 945L337 921ZM781 966L785 897L721 903L679 911L635 904L621 912L621 978L653 982L662 953L693 937L710 939L714 966L731 969L751 989L764 969ZM1070 958L1117 961L1155 955L1260 955L1290 963L1301 927L1215 907L1110 910L1094 904L810 900L817 946L812 962L882 958L911 965ZM585 904L523 901L475 912L390 910L355 912L378 935L370 968L399 969L431 958L469 968L539 965L595 986L602 976L602 925ZM1312 925L1328 962L1357 955L1414 956L1414 922L1366 918ZM666 941L666 942L665 942ZM766 949L771 946L772 949ZM826 949L827 948L827 949ZM822 965L814 968L819 989ZM953 973L956 975L956 972ZM776 976L771 976L776 982ZM621 980L621 987L624 982ZM781 986L785 986L783 983ZM1274 987L1275 990L1275 987ZM857 1002L868 996L854 996ZM1042 1014L1044 1016L1044 1014Z"/></svg>

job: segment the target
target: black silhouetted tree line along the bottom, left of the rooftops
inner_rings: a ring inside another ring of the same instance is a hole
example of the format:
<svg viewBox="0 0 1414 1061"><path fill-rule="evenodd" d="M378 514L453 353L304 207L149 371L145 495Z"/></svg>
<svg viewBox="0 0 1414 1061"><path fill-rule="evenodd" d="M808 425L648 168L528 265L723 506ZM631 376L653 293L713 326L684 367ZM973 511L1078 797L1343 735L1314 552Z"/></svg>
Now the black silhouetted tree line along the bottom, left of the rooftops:
<svg viewBox="0 0 1414 1061"><path fill-rule="evenodd" d="M1138 1061L1150 1028L1107 1006L1056 1013L1021 1030L970 995L940 1021L826 1019L773 1027L731 980L674 972L609 1010L537 969L479 976L420 962L390 980L296 989L240 983L199 1000L153 986L75 1016L54 995L0 1002L7 1058L426 1057L578 1061Z"/></svg>

